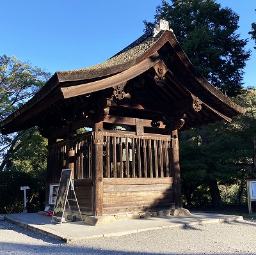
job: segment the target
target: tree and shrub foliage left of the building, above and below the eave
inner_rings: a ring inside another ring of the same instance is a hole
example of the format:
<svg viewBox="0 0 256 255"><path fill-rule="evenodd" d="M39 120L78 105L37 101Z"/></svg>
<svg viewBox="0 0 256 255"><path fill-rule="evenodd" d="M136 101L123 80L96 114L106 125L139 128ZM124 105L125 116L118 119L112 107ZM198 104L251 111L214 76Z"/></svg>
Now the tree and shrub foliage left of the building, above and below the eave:
<svg viewBox="0 0 256 255"><path fill-rule="evenodd" d="M33 97L50 76L14 56L0 56L0 121ZM24 185L30 187L29 212L42 210L46 157L46 141L36 128L0 135L0 213L22 212Z"/></svg>

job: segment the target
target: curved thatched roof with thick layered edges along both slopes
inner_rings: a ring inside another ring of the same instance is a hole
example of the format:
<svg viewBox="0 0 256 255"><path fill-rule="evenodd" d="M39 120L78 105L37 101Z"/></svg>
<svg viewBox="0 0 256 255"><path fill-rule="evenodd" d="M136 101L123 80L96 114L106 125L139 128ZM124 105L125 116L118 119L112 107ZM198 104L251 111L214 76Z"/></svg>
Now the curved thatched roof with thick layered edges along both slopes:
<svg viewBox="0 0 256 255"><path fill-rule="evenodd" d="M24 104L20 109L13 112L5 120L0 122L0 128L3 130L4 126L10 124L15 118L20 118L29 111L29 109L35 108L36 105L41 105L40 102L44 100L47 95L50 95L53 91L54 100L60 100L60 98L65 97L63 91L69 88L75 88L76 86L81 86L88 88L93 85L93 82L100 81L104 83L107 81L108 77L115 77L115 75L122 74L125 70L136 66L145 59L150 58L153 54L156 54L157 50L161 49L165 43L170 43L171 47L175 50L177 57L183 63L186 68L186 72L193 77L202 87L203 90L210 93L214 100L220 101L220 104L225 104L227 107L230 107L234 112L238 114L243 114L246 110L232 102L230 98L225 97L218 89L214 88L200 73L196 71L194 66L189 61L186 54L181 49L179 42L177 42L175 35L172 31L163 30L160 31L156 36L152 36L152 33L146 33L141 36L134 43L131 43L121 52L118 52L113 58L108 59L107 61L100 63L98 65L90 66L88 68L83 68L79 70L70 70L65 72L56 72L51 77L51 79L45 84L45 86L36 93L36 95L31 98L26 104ZM153 55L154 56L154 55ZM158 60L157 60L158 61ZM109 85L112 86L112 85ZM62 92L59 90L62 89ZM100 88L95 87L95 91ZM45 105L47 107L47 105Z"/></svg>

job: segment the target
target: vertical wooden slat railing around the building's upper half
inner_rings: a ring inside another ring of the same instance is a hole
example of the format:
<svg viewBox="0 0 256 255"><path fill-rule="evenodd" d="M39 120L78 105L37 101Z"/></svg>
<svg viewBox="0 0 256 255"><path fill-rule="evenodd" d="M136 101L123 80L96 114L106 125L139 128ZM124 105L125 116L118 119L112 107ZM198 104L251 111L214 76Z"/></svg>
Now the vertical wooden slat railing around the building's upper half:
<svg viewBox="0 0 256 255"><path fill-rule="evenodd" d="M67 151L74 151L74 178L92 178L92 143L102 135L104 178L163 178L171 176L168 135L138 136L122 132L88 132L48 148L51 180L67 167ZM97 160L97 155L96 155ZM52 169L52 170L51 170Z"/></svg>

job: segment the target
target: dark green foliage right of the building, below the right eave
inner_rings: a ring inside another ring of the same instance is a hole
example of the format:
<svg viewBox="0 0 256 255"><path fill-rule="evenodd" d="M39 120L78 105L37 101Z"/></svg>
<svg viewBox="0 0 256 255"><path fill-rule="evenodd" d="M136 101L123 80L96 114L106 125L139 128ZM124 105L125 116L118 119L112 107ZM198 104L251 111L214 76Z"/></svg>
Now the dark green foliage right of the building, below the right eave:
<svg viewBox="0 0 256 255"><path fill-rule="evenodd" d="M256 176L256 90L242 89L234 100L246 108L246 114L231 123L222 121L180 134L182 188L188 205L192 205L197 190L211 182L236 184L236 201L241 203L246 178Z"/></svg>

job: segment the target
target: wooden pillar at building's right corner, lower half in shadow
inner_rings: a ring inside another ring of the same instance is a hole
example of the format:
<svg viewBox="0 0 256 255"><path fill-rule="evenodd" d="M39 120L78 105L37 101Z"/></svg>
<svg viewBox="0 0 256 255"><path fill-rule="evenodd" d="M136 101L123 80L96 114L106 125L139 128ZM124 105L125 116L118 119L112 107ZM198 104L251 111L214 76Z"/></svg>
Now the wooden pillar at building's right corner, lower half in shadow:
<svg viewBox="0 0 256 255"><path fill-rule="evenodd" d="M172 130L170 135L171 138L173 138L171 139L172 145L170 148L170 158L173 176L173 198L175 203L175 209L182 209L178 130Z"/></svg>

